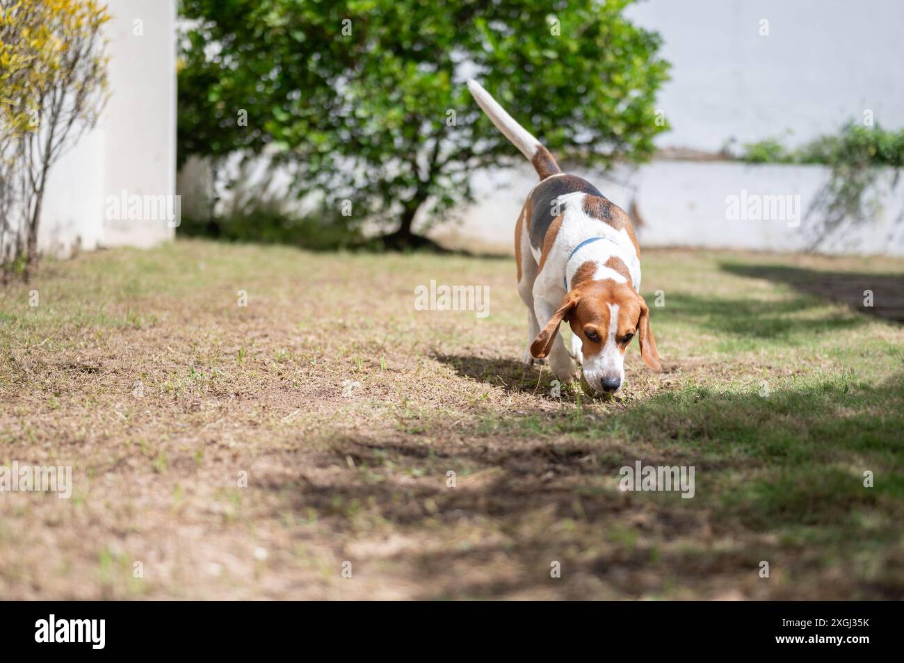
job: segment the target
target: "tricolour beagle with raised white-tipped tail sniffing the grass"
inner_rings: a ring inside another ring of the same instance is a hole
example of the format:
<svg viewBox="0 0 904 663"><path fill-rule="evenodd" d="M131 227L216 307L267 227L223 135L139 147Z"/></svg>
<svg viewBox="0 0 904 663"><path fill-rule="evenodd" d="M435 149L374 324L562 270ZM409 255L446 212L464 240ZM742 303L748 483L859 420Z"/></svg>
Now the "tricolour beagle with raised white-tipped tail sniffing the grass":
<svg viewBox="0 0 904 663"><path fill-rule="evenodd" d="M640 247L631 219L590 182L562 173L476 80L467 87L540 176L514 229L518 292L527 306L525 363L549 357L563 382L578 378L580 364L590 388L614 393L625 380L625 351L636 336L645 364L660 370L650 309L640 296ZM562 321L573 332L570 347L564 337L556 342Z"/></svg>

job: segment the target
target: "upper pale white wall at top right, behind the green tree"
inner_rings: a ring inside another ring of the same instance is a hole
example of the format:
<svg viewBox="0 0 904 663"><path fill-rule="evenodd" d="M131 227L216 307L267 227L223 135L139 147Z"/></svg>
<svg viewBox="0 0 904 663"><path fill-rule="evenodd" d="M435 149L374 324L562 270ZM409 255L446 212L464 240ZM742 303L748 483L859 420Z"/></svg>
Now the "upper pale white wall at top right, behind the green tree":
<svg viewBox="0 0 904 663"><path fill-rule="evenodd" d="M904 126L900 0L646 0L627 15L662 35L673 64L657 103L672 126L662 147L716 151L787 130L794 145L866 108Z"/></svg>

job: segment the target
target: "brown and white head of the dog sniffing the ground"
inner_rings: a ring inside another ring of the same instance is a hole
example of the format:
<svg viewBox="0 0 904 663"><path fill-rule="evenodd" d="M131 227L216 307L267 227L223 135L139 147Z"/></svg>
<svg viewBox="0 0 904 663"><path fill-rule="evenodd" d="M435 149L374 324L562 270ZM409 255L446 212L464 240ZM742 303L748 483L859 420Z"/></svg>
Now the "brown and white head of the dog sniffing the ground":
<svg viewBox="0 0 904 663"><path fill-rule="evenodd" d="M536 359L546 357L566 320L579 337L584 354L584 378L596 391L614 393L625 379L625 351L637 337L647 366L661 370L650 309L630 285L612 280L583 281L565 295L559 309L531 344Z"/></svg>

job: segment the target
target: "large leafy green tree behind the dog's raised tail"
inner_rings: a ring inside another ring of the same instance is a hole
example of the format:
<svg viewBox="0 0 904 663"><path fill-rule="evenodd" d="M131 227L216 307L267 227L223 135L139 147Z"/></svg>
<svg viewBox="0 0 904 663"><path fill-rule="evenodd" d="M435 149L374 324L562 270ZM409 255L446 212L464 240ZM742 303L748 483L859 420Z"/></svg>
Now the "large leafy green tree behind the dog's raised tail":
<svg viewBox="0 0 904 663"><path fill-rule="evenodd" d="M517 154L467 77L562 160L653 153L668 65L631 1L182 0L180 158L265 152L299 195L419 244L419 210L444 219L476 168Z"/></svg>

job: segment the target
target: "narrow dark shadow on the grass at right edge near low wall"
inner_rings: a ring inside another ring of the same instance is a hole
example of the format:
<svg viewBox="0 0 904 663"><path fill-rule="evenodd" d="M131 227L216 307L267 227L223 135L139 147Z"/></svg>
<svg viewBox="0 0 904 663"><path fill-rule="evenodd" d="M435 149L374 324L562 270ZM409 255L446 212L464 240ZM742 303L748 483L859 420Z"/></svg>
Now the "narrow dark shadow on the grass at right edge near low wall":
<svg viewBox="0 0 904 663"><path fill-rule="evenodd" d="M858 313L904 322L904 275L826 272L784 265L725 263L720 267L730 274L791 285L802 293L845 303ZM872 292L872 306L864 305L865 291Z"/></svg>

